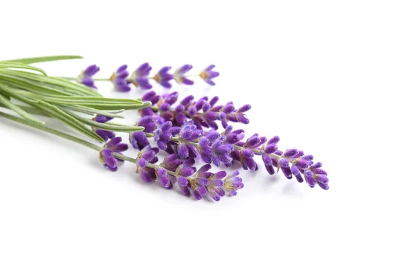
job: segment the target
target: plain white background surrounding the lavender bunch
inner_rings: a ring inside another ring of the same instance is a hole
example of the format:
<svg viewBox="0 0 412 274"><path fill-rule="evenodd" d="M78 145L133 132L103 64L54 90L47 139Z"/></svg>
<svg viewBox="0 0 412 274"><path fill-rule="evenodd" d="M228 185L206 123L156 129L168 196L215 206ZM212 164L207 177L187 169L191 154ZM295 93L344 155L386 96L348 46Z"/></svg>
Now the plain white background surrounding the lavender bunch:
<svg viewBox="0 0 412 274"><path fill-rule="evenodd" d="M0 119L0 273L411 273L411 13L376 0L4 3L0 60L84 56L42 65L51 75L216 64L216 87L173 90L251 103L247 134L314 154L330 190L261 169L242 171L237 197L194 201Z"/></svg>

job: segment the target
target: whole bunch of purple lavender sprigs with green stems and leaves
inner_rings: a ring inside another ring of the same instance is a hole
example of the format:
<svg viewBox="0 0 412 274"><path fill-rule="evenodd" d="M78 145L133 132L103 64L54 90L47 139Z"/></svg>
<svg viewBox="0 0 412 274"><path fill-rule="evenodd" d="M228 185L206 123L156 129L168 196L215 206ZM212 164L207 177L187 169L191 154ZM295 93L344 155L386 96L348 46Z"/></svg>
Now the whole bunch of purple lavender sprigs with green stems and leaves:
<svg viewBox="0 0 412 274"><path fill-rule="evenodd" d="M144 182L159 182L166 189L178 186L184 195L195 199L209 196L219 201L225 195L236 195L244 186L236 167L257 171L257 158L271 175L281 171L287 179L295 177L311 188L318 185L328 190L328 174L312 155L297 149L280 150L278 136L253 134L246 138L243 129L233 128L249 123L246 112L251 105L220 104L218 97L195 100L188 96L179 101L178 92L159 95L151 90L155 83L164 88L171 88L172 81L193 85L196 77L214 86L214 78L219 76L214 65L192 75L188 74L190 64L174 73L170 73L170 66L164 66L152 76L148 63L131 73L122 65L107 78L95 77L100 71L96 65L87 67L78 77L51 77L32 65L77 58L81 57L0 61L0 107L9 109L0 111L0 116L98 151L100 162L109 171L117 171L118 162L132 162ZM150 91L136 100L105 98L97 90L97 81L111 81L119 92L130 92L132 85ZM113 123L114 118L124 118L124 110L137 110L139 121L135 125ZM83 138L49 127L39 116L61 121ZM128 141L137 151L135 158L122 154L129 145L116 132L129 134ZM160 151L163 159L159 159ZM196 169L196 162L204 164ZM212 164L221 170L211 172ZM235 170L228 172L229 167Z"/></svg>

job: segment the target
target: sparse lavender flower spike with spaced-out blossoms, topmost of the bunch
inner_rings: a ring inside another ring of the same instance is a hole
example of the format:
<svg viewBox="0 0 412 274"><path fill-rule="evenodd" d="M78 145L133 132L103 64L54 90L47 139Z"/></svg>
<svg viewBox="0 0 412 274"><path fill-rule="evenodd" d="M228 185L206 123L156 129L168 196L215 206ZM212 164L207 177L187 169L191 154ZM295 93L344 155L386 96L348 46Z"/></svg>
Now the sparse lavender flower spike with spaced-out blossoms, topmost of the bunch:
<svg viewBox="0 0 412 274"><path fill-rule="evenodd" d="M174 73L170 73L172 69L171 66L163 66L155 75L149 76L150 71L152 71L152 67L149 63L141 64L133 73L128 73L126 64L119 66L119 68L111 75L108 79L100 79L100 80L108 80L113 83L115 89L121 92L128 92L130 91L130 84L134 84L136 87L139 87L144 90L149 90L152 88L150 84L150 79L155 80L158 84L163 86L164 88L172 88L171 81L174 80L178 84L185 84L185 85L193 85L194 81L189 79L189 77L200 77L203 79L207 84L214 86L215 83L212 81L215 77L219 76L217 71L213 71L214 65L207 66L207 68L203 69L197 75L187 75L187 73L192 70L193 66L191 64L185 64ZM96 88L93 80L93 76L100 71L99 67L95 64L88 66L87 69L82 71L78 76L78 82L90 86L91 88ZM129 76L130 75L130 76Z"/></svg>

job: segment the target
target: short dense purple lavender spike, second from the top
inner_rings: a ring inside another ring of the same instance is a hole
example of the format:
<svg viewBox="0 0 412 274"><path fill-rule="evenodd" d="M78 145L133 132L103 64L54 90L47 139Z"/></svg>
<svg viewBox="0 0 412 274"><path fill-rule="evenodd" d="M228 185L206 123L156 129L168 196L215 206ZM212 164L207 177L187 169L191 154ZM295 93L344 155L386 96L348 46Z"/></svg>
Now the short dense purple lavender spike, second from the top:
<svg viewBox="0 0 412 274"><path fill-rule="evenodd" d="M146 92L142 101L150 101L152 106L143 110L139 110L141 116L157 116L160 121L171 121L173 125L181 127L187 121L193 121L198 129L203 127L211 127L218 129L217 121L222 123L222 127L227 128L229 122L248 124L245 112L251 109L251 105L243 105L236 109L233 102L228 102L225 105L218 105L219 97L215 96L211 99L203 97L198 101L194 101L192 95L185 97L183 100L172 107L179 99L178 92L171 92L159 96L154 91Z"/></svg>

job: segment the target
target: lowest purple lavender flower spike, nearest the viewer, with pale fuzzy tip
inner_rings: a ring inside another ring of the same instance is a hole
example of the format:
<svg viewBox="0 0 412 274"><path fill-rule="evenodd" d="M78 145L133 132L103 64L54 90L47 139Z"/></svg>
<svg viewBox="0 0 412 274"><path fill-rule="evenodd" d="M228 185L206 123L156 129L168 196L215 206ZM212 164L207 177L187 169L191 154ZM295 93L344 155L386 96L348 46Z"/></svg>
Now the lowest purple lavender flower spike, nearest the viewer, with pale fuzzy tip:
<svg viewBox="0 0 412 274"><path fill-rule="evenodd" d="M165 123L159 129L161 130L157 134L159 136L157 138L158 144L168 139L169 132L174 130L170 122ZM194 167L194 159L184 160L176 154L169 155L163 159L161 164L156 164L159 161L157 156L159 148L150 147L143 132L130 134L130 140L133 147L140 149L135 160L136 173L140 175L144 182L157 181L167 189L173 188L173 182L176 182L183 195L190 196L192 193L193 197L198 200L209 195L215 201L219 201L220 197L225 196L226 193L236 195L237 190L243 188L242 179L238 177L238 171L234 171L229 175L226 171L211 173L209 172L211 169L210 164L202 166L197 171ZM142 140L144 140L144 144ZM142 145L145 146L142 147ZM114 137L100 150L100 162L109 170L117 171L117 161L122 161L119 156L127 149L128 145L122 143L121 137Z"/></svg>

